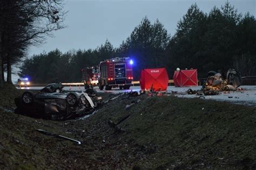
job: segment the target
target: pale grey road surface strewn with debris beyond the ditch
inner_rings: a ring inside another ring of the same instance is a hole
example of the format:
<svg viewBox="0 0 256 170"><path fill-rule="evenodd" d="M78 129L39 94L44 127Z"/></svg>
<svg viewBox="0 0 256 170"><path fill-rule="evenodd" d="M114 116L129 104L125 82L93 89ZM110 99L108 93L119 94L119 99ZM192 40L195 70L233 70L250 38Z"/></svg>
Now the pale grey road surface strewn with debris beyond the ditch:
<svg viewBox="0 0 256 170"><path fill-rule="evenodd" d="M211 100L219 100L219 101L230 101L232 103L237 104L245 104L245 105L253 105L256 106L256 86L240 86L242 88L241 91L230 91L228 93L221 92L219 95L215 96L204 96L205 99ZM17 87L17 89L19 89ZM22 88L25 90L40 90L43 87L25 87ZM95 87L98 92L108 92L108 93L122 93L122 92L129 92L129 91L139 91L140 86L131 86L130 90L119 90L118 88L112 90L99 90L98 87ZM177 97L186 97L186 98L198 98L196 94L186 94L188 89L192 90L200 90L201 86L196 87L174 87L168 86L167 92L175 91ZM83 86L72 86L72 87L64 87L64 90L71 90L71 91L79 91L84 90Z"/></svg>

